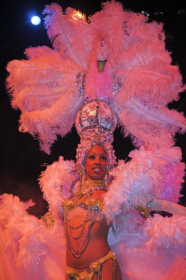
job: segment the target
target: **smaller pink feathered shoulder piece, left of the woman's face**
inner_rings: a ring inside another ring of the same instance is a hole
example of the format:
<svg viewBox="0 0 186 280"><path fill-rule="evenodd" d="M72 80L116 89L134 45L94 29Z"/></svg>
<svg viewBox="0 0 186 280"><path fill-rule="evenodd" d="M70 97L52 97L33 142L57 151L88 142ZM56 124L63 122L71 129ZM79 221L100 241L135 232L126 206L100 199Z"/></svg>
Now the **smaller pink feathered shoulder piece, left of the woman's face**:
<svg viewBox="0 0 186 280"><path fill-rule="evenodd" d="M70 186L77 179L75 174L75 163L73 160L64 160L62 156L58 161L47 165L39 179L40 187L43 191L43 198L49 204L49 212L54 218L61 215L61 202L70 198Z"/></svg>

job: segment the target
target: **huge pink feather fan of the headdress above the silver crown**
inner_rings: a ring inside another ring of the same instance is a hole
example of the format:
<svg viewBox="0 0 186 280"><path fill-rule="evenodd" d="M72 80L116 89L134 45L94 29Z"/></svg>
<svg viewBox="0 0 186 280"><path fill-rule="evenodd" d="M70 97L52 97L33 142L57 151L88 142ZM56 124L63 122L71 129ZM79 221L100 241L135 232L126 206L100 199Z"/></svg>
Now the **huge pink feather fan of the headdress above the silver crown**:
<svg viewBox="0 0 186 280"><path fill-rule="evenodd" d="M21 110L19 130L37 137L48 154L94 99L107 102L137 148L172 147L175 133L185 131L183 114L167 107L185 87L165 49L162 23L123 11L115 1L102 8L86 21L75 9L64 14L57 4L46 6L53 49L28 48L27 60L7 66L12 106Z"/></svg>

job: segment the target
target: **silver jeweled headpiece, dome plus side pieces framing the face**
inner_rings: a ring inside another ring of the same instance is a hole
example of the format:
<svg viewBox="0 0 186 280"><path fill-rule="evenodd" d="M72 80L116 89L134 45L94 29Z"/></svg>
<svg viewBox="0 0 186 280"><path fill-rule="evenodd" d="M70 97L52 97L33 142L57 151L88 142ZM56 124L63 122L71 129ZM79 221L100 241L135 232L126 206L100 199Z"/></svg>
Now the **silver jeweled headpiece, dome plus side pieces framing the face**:
<svg viewBox="0 0 186 280"><path fill-rule="evenodd" d="M114 111L107 102L95 99L85 103L76 116L76 130L81 138L76 155L76 170L81 172L85 165L90 148L101 145L108 156L108 169L115 165L115 155L112 148L113 132L117 124Z"/></svg>

